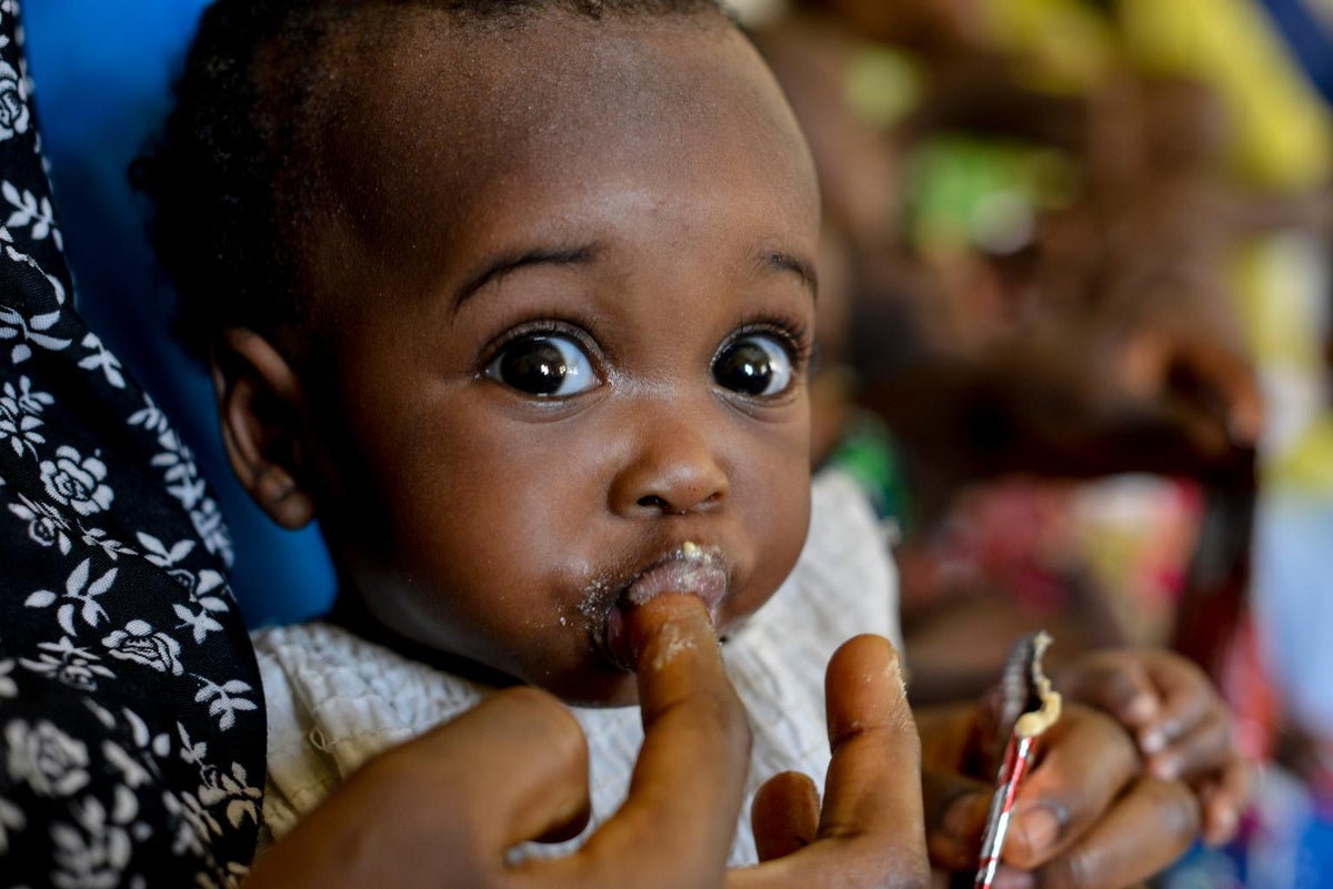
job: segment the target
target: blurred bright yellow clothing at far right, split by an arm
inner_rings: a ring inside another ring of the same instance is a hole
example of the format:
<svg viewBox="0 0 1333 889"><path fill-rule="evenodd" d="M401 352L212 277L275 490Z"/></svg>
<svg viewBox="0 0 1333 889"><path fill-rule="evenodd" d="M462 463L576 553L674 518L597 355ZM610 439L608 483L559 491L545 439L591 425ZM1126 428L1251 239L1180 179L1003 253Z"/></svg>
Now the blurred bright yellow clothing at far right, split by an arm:
<svg viewBox="0 0 1333 889"><path fill-rule="evenodd" d="M1149 73L1210 84L1230 116L1230 170L1261 190L1320 188L1333 173L1329 108L1253 0L1118 0L1125 56ZM1333 495L1333 418L1322 337L1328 245L1257 236L1232 281L1269 401L1265 486Z"/></svg>

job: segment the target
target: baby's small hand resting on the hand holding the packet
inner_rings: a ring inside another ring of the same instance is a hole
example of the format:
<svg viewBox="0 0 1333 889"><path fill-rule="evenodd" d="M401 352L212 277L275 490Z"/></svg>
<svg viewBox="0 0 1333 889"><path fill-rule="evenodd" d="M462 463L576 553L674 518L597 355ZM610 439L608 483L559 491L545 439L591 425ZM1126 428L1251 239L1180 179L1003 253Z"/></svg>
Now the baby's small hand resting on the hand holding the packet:
<svg viewBox="0 0 1333 889"><path fill-rule="evenodd" d="M1234 836L1254 769L1236 745L1230 709L1198 665L1162 648L1100 651L1064 668L1057 685L1129 729L1149 775L1194 788L1206 842Z"/></svg>

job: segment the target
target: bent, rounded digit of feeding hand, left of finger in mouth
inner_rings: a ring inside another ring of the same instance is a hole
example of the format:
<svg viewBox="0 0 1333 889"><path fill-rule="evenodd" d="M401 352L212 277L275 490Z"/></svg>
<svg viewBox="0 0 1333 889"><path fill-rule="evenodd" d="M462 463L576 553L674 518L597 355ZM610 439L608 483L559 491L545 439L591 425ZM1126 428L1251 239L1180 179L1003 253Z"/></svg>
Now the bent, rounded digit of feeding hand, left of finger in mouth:
<svg viewBox="0 0 1333 889"><path fill-rule="evenodd" d="M255 862L245 885L427 889L440 873L484 885L505 849L577 833L587 814L579 723L551 695L513 688L367 763Z"/></svg>

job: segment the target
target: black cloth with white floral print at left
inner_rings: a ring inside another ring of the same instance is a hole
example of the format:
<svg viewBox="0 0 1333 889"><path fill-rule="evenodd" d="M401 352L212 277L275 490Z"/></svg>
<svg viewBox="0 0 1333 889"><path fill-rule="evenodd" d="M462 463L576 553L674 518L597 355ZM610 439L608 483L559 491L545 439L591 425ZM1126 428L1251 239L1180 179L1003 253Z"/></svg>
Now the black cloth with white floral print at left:
<svg viewBox="0 0 1333 889"><path fill-rule="evenodd" d="M73 309L17 13L0 0L0 889L236 885L265 729L229 539Z"/></svg>

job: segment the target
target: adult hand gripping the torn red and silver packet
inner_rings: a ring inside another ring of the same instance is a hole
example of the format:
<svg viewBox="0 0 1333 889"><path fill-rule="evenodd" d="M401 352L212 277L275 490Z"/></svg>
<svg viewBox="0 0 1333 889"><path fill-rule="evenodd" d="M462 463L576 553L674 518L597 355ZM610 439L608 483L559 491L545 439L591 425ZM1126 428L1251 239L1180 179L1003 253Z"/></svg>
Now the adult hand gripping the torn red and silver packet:
<svg viewBox="0 0 1333 889"><path fill-rule="evenodd" d="M932 864L974 870L993 777L960 775L974 711L918 717ZM1181 781L1145 775L1133 739L1109 716L1070 704L1044 735L1014 806L1001 885L1112 889L1172 864L1198 834L1200 806Z"/></svg>

